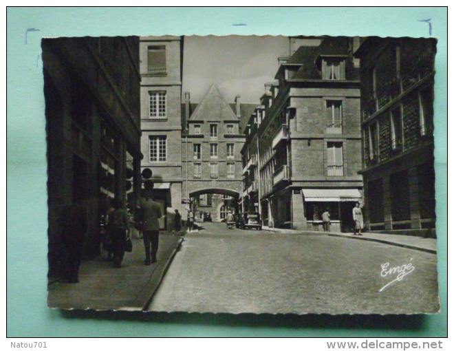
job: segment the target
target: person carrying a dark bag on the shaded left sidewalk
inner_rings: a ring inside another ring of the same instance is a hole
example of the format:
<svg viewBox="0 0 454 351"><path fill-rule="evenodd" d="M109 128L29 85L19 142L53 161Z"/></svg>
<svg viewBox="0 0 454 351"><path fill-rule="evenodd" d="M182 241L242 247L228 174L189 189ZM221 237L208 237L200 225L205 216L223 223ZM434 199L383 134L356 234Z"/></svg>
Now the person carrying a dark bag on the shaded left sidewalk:
<svg viewBox="0 0 454 351"><path fill-rule="evenodd" d="M114 267L120 268L125 256L125 243L129 232L129 217L123 208L123 202L112 200L114 211L109 215L109 233L111 237L112 252L114 253Z"/></svg>

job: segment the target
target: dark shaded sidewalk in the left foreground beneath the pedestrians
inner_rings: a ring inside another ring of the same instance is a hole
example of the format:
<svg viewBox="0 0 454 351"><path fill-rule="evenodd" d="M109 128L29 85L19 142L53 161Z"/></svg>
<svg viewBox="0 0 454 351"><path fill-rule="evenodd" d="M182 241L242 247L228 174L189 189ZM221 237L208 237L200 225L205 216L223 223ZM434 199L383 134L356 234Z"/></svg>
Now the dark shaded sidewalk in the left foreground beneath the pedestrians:
<svg viewBox="0 0 454 351"><path fill-rule="evenodd" d="M50 284L47 306L83 310L145 310L183 237L160 233L158 262L151 266L144 265L142 239L132 241L133 252L125 253L122 268L114 268L103 251L100 257L80 265L78 284Z"/></svg>

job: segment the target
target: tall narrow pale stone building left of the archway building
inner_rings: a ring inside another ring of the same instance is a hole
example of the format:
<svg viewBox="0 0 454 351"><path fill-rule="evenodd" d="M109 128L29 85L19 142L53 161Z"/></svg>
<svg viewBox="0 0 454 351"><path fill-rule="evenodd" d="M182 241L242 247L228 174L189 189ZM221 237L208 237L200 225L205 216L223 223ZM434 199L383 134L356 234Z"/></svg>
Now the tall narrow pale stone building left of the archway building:
<svg viewBox="0 0 454 351"><path fill-rule="evenodd" d="M175 209L182 213L183 45L180 36L140 37L142 174L153 174L161 229L173 224Z"/></svg>

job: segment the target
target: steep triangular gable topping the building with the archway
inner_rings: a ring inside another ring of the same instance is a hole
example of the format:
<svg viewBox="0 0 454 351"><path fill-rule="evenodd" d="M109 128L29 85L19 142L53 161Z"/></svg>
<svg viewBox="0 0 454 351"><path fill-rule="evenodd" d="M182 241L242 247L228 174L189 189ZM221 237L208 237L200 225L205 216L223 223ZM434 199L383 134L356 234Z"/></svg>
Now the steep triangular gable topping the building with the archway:
<svg viewBox="0 0 454 351"><path fill-rule="evenodd" d="M238 120L238 118L213 84L189 120Z"/></svg>

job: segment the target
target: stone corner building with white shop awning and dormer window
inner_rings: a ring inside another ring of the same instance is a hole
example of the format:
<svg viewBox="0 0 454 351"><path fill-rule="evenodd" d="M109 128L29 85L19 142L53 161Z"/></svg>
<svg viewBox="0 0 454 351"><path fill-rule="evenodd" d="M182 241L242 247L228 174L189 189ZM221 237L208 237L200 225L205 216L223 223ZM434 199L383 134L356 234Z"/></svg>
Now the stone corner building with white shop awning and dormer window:
<svg viewBox="0 0 454 351"><path fill-rule="evenodd" d="M291 37L290 57L279 58L242 150L264 224L317 231L327 209L332 231L352 227L363 189L358 46L359 38Z"/></svg>

